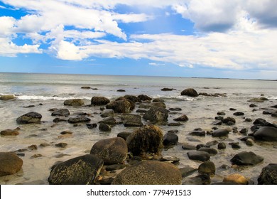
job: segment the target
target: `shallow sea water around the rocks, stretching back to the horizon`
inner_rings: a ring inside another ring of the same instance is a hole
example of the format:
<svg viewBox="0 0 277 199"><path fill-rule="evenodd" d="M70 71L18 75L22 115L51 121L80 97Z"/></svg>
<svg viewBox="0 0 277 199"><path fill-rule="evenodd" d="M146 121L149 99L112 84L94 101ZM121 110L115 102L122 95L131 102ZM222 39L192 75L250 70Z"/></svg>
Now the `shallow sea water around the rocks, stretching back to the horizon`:
<svg viewBox="0 0 277 199"><path fill-rule="evenodd" d="M81 87L91 87L82 89ZM173 88L171 91L162 91L164 87ZM194 88L198 93L206 92L213 96L200 95L199 97L188 97L180 95L186 88ZM57 161L65 161L75 156L89 153L92 145L100 139L111 138L121 131L132 132L135 127L124 127L123 124L112 127L110 132L99 131L98 128L88 129L85 124L73 127L67 122L55 124L49 109L67 108L71 116L85 112L92 120L91 123L98 123L103 118L100 116L100 107L65 107L63 102L66 99L83 99L85 104L90 104L94 96L103 96L111 100L124 95L148 95L152 99L160 98L165 101L167 109L180 108L181 111L170 112L168 123L173 119L186 114L188 122L182 126L171 127L168 125L159 126L163 133L172 129L178 130L178 145L165 149L163 155L177 156L180 158L178 167L192 166L197 168L199 162L188 159L186 150L182 149L183 143L205 144L214 140L212 136L189 136L190 131L196 128L209 131L214 127L214 117L217 112L224 112L225 117L234 117L234 126L222 125L219 128L237 127L238 130L250 128L253 122L244 122L245 118L254 121L257 118L266 119L267 122L277 123L276 117L263 114L277 104L277 81L269 80L233 80L214 78L192 78L192 77L146 77L146 76L119 76L119 75L61 75L61 74L33 74L33 73L0 73L0 95L15 95L15 100L0 100L0 131L4 129L16 129L19 127L18 136L1 136L0 151L17 151L27 149L23 152L23 167L21 171L10 176L0 177L0 184L48 184L50 167ZM125 92L118 92L125 90ZM214 95L217 94L217 95ZM219 95L218 95L219 94ZM217 97L216 97L217 96ZM249 99L253 97L266 97L268 100L262 103L254 103L257 107L249 107ZM234 110L244 112L244 116L234 116ZM139 104L131 114L136 113ZM16 118L27 112L38 112L42 114L41 124L17 124ZM141 114L142 115L142 114ZM148 124L142 121L143 124ZM72 131L70 137L60 138L61 131ZM258 142L254 146L246 146L239 138L242 134L229 134L227 139L217 139L227 144L227 149L219 150L216 156L211 157L217 167L212 176L212 182L222 181L224 176L231 173L240 173L256 183L261 168L268 163L277 163L277 149L274 142ZM67 143L65 148L57 148L55 144ZM239 142L240 149L232 149L230 142ZM49 146L40 147L40 144L47 143ZM28 146L36 145L38 149L31 150ZM213 146L216 148L216 146ZM257 166L245 166L234 168L230 159L239 151L253 151L264 157L263 163ZM40 154L39 156L34 156ZM229 166L228 169L221 168L222 165ZM197 172L194 174L196 175ZM193 175L192 175L193 176Z"/></svg>

